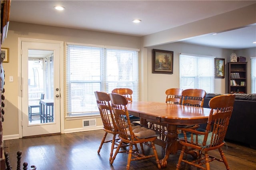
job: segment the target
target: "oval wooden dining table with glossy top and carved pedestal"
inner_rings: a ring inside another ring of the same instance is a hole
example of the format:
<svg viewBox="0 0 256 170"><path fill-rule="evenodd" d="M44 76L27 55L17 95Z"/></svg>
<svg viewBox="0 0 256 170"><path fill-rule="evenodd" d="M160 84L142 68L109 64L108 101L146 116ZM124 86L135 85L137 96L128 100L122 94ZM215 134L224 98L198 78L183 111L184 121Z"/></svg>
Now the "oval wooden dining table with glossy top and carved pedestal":
<svg viewBox="0 0 256 170"><path fill-rule="evenodd" d="M126 106L130 115L140 117L140 124L148 127L152 121L167 127L165 155L160 164L167 166L170 154L176 154L181 149L177 140L177 125L195 125L207 123L210 115L209 108L174 105L160 102L128 102Z"/></svg>

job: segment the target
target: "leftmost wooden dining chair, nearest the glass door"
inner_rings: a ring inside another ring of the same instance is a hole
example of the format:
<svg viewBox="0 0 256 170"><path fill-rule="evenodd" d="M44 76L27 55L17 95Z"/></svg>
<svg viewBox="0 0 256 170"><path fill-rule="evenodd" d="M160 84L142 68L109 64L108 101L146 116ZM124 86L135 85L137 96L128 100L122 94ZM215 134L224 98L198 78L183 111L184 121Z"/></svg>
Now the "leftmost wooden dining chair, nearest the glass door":
<svg viewBox="0 0 256 170"><path fill-rule="evenodd" d="M100 143L100 147L98 149L98 153L100 153L100 149L102 148L102 145L104 143L112 142L111 150L110 150L110 158L109 158L109 161L111 161L113 156L113 150L115 148L114 146L119 139L116 138L116 134L118 134L118 130L116 127L114 115L112 113L112 108L110 105L110 97L108 93L101 92L101 91L95 91L94 94L96 97L98 109L100 111L100 116L103 123L103 130L105 131L105 134ZM108 133L113 134L112 140L106 140L106 136Z"/></svg>

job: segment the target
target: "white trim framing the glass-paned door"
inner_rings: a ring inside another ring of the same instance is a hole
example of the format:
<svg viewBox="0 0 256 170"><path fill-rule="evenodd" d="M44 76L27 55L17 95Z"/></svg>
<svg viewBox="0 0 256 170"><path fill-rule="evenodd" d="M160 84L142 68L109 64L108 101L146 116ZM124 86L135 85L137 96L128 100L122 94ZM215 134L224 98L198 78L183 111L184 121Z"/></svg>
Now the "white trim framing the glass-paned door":
<svg viewBox="0 0 256 170"><path fill-rule="evenodd" d="M22 138L22 42L58 43L60 45L60 133L64 133L64 42L55 40L42 40L33 38L18 38L18 130Z"/></svg>

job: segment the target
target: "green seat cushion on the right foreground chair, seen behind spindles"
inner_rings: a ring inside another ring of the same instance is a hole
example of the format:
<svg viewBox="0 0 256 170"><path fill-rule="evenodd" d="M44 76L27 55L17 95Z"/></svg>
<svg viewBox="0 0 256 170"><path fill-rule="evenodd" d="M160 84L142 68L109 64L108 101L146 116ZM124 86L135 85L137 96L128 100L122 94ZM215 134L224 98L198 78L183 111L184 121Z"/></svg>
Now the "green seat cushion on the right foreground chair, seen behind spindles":
<svg viewBox="0 0 256 170"><path fill-rule="evenodd" d="M205 132L204 129L198 129L197 131L199 131L199 132ZM191 142L191 132L187 132L186 135L187 135L187 141L190 142L190 143L192 143L192 142ZM178 137L179 137L179 140L185 140L183 133L178 134ZM207 140L206 140L206 146L209 146L209 145L210 145L211 138L212 138L212 132L209 132L208 138L207 138ZM199 145L199 146L202 146L202 145L203 145L203 141L204 141L204 135L199 134L199 135L198 135L198 145ZM193 144L196 144L196 134L193 134Z"/></svg>

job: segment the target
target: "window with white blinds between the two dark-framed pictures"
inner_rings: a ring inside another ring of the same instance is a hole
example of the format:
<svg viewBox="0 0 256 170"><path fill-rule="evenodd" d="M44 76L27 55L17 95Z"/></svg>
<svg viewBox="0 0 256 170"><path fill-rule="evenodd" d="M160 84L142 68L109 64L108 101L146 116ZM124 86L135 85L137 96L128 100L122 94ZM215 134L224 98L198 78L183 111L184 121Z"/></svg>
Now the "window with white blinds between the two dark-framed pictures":
<svg viewBox="0 0 256 170"><path fill-rule="evenodd" d="M180 54L180 88L214 93L214 57Z"/></svg>

